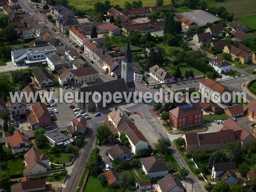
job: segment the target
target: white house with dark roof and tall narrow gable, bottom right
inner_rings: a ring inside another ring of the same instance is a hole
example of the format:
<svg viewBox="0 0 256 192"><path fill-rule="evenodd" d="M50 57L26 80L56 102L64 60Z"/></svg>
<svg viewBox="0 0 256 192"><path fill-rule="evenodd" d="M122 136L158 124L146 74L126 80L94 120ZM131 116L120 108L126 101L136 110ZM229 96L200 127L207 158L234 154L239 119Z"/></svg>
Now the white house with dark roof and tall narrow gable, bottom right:
<svg viewBox="0 0 256 192"><path fill-rule="evenodd" d="M212 165L212 176L211 178L215 181L219 179L219 177L226 171L235 172L236 163L228 162L228 163L216 163Z"/></svg>

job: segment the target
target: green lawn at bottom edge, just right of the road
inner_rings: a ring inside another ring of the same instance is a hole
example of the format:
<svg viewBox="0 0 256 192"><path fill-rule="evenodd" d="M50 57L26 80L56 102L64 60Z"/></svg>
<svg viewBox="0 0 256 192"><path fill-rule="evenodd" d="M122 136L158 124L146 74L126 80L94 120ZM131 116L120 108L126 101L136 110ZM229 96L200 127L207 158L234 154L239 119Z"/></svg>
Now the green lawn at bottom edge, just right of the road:
<svg viewBox="0 0 256 192"><path fill-rule="evenodd" d="M97 176L89 176L84 192L107 192L107 186L102 186Z"/></svg>

